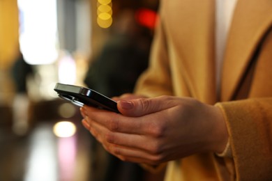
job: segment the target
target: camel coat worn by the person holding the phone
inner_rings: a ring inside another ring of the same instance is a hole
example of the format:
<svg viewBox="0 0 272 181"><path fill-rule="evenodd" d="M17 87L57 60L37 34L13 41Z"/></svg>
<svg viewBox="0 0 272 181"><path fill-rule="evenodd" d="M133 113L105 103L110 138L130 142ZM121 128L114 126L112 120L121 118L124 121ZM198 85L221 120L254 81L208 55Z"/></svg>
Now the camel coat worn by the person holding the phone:
<svg viewBox="0 0 272 181"><path fill-rule="evenodd" d="M238 0L216 92L215 1L163 0L148 70L136 93L220 107L231 157L169 162L165 180L272 180L272 1ZM182 140L181 140L182 141Z"/></svg>

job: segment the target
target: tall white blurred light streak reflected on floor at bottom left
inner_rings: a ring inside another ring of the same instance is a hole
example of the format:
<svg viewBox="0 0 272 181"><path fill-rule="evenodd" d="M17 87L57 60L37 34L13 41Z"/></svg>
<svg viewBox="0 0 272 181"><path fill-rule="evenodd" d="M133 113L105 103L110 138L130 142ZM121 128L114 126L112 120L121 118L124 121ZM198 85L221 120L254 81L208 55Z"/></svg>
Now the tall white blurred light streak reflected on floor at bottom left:
<svg viewBox="0 0 272 181"><path fill-rule="evenodd" d="M24 179L27 181L57 181L56 143L50 127L42 125L33 130Z"/></svg>

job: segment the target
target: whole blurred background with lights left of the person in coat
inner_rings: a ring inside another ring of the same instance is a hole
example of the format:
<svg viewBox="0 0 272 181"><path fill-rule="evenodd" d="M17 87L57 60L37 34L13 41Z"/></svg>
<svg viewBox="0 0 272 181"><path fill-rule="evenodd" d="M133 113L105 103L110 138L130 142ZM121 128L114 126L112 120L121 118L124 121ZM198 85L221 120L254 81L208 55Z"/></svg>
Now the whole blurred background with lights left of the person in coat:
<svg viewBox="0 0 272 181"><path fill-rule="evenodd" d="M0 0L0 180L163 180L107 154L53 90L133 91L157 10L158 0Z"/></svg>

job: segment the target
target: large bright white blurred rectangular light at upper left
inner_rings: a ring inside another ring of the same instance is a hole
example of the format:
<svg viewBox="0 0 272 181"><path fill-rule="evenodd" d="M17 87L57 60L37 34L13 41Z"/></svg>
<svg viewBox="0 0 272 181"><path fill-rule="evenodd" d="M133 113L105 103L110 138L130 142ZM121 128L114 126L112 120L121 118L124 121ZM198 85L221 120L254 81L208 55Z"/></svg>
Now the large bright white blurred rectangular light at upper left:
<svg viewBox="0 0 272 181"><path fill-rule="evenodd" d="M58 57L56 0L18 0L20 49L27 63L50 64Z"/></svg>

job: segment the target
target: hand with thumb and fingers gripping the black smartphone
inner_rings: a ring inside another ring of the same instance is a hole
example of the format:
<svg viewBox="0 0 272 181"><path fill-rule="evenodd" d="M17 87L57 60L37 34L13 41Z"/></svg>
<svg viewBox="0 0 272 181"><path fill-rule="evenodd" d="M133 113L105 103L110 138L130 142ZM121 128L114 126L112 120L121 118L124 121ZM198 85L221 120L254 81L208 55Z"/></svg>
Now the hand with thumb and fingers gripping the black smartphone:
<svg viewBox="0 0 272 181"><path fill-rule="evenodd" d="M222 152L228 134L217 107L192 98L119 100L121 114L82 108L86 129L123 161L160 164L197 152Z"/></svg>

